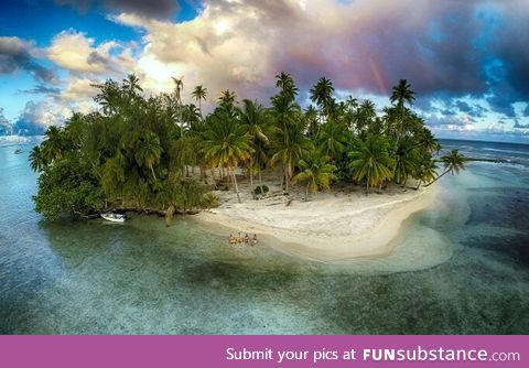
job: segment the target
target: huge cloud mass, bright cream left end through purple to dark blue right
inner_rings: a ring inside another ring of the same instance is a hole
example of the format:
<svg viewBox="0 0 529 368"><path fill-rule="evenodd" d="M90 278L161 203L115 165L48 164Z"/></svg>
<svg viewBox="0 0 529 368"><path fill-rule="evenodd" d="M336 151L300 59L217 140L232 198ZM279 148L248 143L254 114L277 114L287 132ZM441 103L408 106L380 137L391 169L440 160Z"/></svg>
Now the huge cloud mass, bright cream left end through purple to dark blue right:
<svg viewBox="0 0 529 368"><path fill-rule="evenodd" d="M388 95L391 86L407 78L420 97L487 97L495 111L512 117L511 105L527 100L529 94L514 79L507 78L505 86L496 82L490 71L508 76L516 69L525 75L529 56L518 52L527 48L521 46L527 32L522 17L516 15L519 8L528 7L510 0L506 4L209 0L194 20L184 23L132 13L112 19L145 32L138 72L152 89L166 90L172 87L170 76L183 75L186 86L204 84L214 98L230 88L267 101L273 93L273 76L287 71L305 94L300 96L303 100L323 75L336 89L378 95ZM504 39L500 47L497 39L507 36L508 26L498 22L508 24L510 18L519 20L511 30L519 43L510 45ZM521 56L516 64L511 53ZM492 67L493 59L500 62ZM464 104L464 112L471 116L485 112L483 107Z"/></svg>

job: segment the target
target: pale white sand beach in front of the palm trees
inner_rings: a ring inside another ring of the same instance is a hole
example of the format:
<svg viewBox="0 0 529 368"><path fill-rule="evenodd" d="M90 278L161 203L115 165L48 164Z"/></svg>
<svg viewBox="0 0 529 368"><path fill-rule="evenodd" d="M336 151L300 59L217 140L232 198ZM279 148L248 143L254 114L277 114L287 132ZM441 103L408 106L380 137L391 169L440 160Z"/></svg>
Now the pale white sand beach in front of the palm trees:
<svg viewBox="0 0 529 368"><path fill-rule="evenodd" d="M400 192L400 193L399 193ZM390 253L403 238L406 220L429 207L438 190L393 188L390 193L365 196L359 193L319 194L312 202L287 206L279 202L234 203L231 195L209 212L193 216L212 232L257 234L259 243L304 260L348 263Z"/></svg>

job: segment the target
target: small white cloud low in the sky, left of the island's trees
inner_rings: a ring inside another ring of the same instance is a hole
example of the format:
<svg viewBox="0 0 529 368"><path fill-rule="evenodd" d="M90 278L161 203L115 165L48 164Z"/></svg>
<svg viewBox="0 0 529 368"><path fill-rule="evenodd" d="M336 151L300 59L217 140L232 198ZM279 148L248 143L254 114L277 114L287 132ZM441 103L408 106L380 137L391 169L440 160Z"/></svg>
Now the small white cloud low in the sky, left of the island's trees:
<svg viewBox="0 0 529 368"><path fill-rule="evenodd" d="M13 133L18 136L42 136L51 126L61 126L72 116L66 106L57 105L47 98L41 101L28 101L13 125Z"/></svg>

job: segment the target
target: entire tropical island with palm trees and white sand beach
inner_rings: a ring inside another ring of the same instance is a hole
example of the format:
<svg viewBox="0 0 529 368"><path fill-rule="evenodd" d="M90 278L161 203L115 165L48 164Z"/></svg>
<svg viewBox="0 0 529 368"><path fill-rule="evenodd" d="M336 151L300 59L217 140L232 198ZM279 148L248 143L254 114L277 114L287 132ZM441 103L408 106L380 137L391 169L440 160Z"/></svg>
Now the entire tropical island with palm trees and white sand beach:
<svg viewBox="0 0 529 368"><path fill-rule="evenodd" d="M435 181L467 161L441 145L410 106L406 79L391 106L338 100L322 77L302 109L292 76L276 76L268 106L225 90L209 113L196 86L183 104L145 96L131 74L96 85L99 108L50 127L30 162L40 173L36 210L48 220L100 213L175 214L222 234L259 234L302 258L336 261L388 253L403 221L428 207Z"/></svg>

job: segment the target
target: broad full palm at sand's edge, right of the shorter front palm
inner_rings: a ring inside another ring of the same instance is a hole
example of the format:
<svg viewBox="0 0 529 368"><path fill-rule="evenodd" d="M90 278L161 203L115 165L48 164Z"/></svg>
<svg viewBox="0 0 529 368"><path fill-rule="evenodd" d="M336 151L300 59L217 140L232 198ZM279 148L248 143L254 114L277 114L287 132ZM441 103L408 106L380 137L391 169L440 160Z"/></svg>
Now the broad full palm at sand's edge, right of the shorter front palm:
<svg viewBox="0 0 529 368"><path fill-rule="evenodd" d="M381 186L392 178L393 173L389 154L388 142L382 137L369 134L365 142L360 141L359 149L350 153L354 170L353 178L357 182L366 180L366 194L370 186Z"/></svg>

